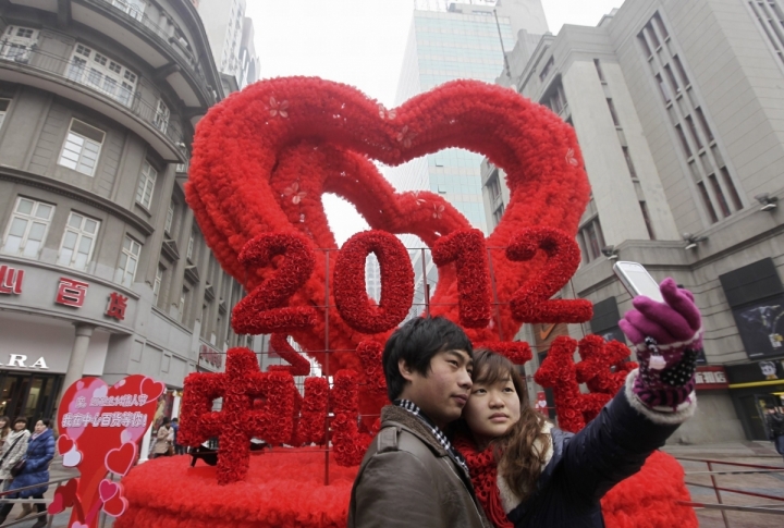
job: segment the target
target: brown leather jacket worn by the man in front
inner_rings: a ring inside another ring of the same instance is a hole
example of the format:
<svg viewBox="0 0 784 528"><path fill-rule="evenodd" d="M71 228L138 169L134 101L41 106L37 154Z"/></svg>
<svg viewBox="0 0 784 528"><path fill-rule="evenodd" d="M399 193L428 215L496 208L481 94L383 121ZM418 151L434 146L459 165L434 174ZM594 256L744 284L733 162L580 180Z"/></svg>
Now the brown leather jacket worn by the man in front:
<svg viewBox="0 0 784 528"><path fill-rule="evenodd" d="M381 409L348 505L348 528L492 528L466 471L407 410Z"/></svg>

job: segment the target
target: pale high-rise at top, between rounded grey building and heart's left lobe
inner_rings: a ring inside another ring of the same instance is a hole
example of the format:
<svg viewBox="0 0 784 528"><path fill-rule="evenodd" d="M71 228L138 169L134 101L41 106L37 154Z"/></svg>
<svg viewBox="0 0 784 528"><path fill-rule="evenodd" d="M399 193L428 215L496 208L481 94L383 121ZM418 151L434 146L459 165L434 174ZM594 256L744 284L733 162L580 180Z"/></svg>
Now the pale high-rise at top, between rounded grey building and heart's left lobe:
<svg viewBox="0 0 784 528"><path fill-rule="evenodd" d="M218 71L225 75L226 91L243 89L258 79L259 59L254 47L254 25L245 16L245 0L198 0Z"/></svg>

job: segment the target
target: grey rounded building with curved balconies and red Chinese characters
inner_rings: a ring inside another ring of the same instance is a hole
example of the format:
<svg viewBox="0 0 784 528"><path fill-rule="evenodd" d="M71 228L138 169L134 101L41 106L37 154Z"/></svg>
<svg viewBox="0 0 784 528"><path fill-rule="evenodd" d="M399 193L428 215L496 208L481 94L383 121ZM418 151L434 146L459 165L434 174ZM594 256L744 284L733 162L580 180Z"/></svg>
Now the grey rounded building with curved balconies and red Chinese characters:
<svg viewBox="0 0 784 528"><path fill-rule="evenodd" d="M183 185L223 97L187 0L0 3L0 415L52 417L83 376L222 366L244 295Z"/></svg>

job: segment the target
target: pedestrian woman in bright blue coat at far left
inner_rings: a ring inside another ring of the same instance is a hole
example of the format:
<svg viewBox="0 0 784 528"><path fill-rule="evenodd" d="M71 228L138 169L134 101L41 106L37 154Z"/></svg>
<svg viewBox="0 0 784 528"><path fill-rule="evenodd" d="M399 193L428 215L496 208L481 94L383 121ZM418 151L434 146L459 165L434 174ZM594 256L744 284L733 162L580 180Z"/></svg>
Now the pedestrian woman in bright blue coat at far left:
<svg viewBox="0 0 784 528"><path fill-rule="evenodd" d="M54 434L49 429L49 420L38 420L35 425L33 435L27 443L27 453L25 454L25 465L9 488L9 491L27 488L28 486L45 484L38 488L29 488L19 493L12 493L9 499L44 499L49 486L49 463L54 458ZM36 503L38 514L46 511L46 504ZM5 517L11 512L13 503L3 504L0 508L0 524L5 521ZM20 516L22 517L22 516ZM38 520L30 528L44 528L47 525L46 515L38 517Z"/></svg>

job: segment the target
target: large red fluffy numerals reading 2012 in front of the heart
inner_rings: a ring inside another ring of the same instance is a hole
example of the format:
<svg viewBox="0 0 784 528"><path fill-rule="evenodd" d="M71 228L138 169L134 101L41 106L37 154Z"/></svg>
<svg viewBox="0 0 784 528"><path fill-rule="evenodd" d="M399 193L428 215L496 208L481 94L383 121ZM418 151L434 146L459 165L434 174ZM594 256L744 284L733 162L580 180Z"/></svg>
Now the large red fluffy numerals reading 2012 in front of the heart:
<svg viewBox="0 0 784 528"><path fill-rule="evenodd" d="M554 228L520 230L506 248L510 260L546 258L541 271L523 284L510 299L518 322L584 322L592 305L584 299L551 300L579 266L579 248L566 233ZM249 272L258 272L283 257L282 262L233 310L237 333L289 333L311 328L315 308L285 307L314 271L311 242L303 234L264 234L248 242L240 255ZM375 253L381 270L381 300L373 306L365 290L365 259ZM440 238L432 249L438 266L454 263L457 277L460 322L465 328L485 328L490 322L492 287L485 238L478 230L458 230ZM333 279L334 302L343 320L366 334L397 327L413 302L414 270L408 251L392 234L365 231L352 236L340 250Z"/></svg>

